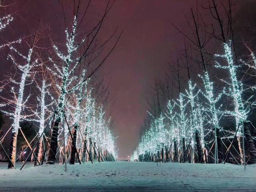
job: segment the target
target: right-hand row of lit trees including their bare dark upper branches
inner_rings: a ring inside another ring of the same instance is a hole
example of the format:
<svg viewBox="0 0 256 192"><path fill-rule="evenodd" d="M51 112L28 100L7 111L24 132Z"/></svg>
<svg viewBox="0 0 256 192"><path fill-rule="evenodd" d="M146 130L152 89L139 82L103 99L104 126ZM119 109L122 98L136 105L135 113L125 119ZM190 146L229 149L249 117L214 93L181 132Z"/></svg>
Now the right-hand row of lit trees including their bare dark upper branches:
<svg viewBox="0 0 256 192"><path fill-rule="evenodd" d="M162 78L156 81L156 95L148 102L154 114L149 122L164 116L161 127L166 132L165 142L158 142L157 150L148 152L152 144L143 137L134 152L139 160L149 161L154 156L173 162L207 162L210 158L217 163L232 158L238 163L246 154L255 162L254 137L250 134L254 127L248 121L253 120L255 110L255 57L253 48L246 45L251 42L239 37L241 26L237 25L241 21L234 15L237 8L232 1L208 0L200 8L196 4L196 12L191 8L190 17L186 16L188 33L172 24L184 36L185 49L178 51L177 62L172 61L166 82ZM250 56L246 56L248 50ZM186 73L188 79L184 78ZM234 128L228 128L233 122ZM145 121L143 129L150 135L147 138L157 140L153 126Z"/></svg>

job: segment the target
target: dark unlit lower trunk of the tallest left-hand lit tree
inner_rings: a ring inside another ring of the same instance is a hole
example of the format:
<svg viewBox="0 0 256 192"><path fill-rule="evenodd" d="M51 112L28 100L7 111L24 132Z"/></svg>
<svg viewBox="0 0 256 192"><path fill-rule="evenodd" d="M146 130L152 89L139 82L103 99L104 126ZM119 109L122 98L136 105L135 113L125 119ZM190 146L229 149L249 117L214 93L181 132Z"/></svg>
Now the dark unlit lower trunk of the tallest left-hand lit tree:
<svg viewBox="0 0 256 192"><path fill-rule="evenodd" d="M58 148L59 124L60 124L60 118L58 118L54 122L54 126L52 129L52 137L50 141L50 150L49 150L46 164L55 164L55 160L56 160L55 156Z"/></svg>

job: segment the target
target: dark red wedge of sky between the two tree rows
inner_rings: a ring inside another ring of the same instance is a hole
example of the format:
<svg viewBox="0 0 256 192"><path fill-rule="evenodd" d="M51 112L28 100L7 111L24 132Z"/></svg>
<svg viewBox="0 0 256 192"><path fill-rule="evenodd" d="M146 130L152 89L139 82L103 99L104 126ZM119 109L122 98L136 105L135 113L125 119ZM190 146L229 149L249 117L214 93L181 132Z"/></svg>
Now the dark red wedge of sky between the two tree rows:
<svg viewBox="0 0 256 192"><path fill-rule="evenodd" d="M124 30L101 69L111 77L110 92L115 94L112 108L120 157L130 155L138 144L150 85L164 75L171 57L183 46L184 38L169 21L186 26L184 14L194 4L194 0L117 0L108 15L110 26Z"/></svg>

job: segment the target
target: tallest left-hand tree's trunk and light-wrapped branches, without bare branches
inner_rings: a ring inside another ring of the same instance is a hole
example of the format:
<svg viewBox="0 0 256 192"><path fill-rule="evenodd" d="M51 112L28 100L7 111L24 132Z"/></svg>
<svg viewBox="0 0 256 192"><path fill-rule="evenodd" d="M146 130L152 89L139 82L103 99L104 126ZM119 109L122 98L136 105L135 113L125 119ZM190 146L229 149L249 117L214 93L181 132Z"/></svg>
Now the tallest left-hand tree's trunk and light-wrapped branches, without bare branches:
<svg viewBox="0 0 256 192"><path fill-rule="evenodd" d="M52 129L52 136L50 141L50 150L48 154L48 164L54 164L55 156L56 156L56 150L58 147L58 131L59 131L59 124L61 122L62 118L62 112L64 111L66 101L68 99L68 95L79 86L82 86L82 84L85 83L85 81L80 82L79 84L74 85L74 80L76 79L76 76L74 76L74 72L77 68L77 66L80 64L80 61L82 60L82 57L75 57L76 50L83 44L85 39L83 39L80 43L75 43L75 36L76 36L76 27L77 27L77 17L74 17L74 22L72 25L72 31L68 32L66 30L66 48L67 48L67 54L62 53L60 50L58 50L57 46L53 46L54 50L57 54L57 56L62 60L63 65L61 68L51 59L54 70L47 68L56 76L56 78L61 79L60 84L56 85L56 87L60 91L60 96L58 98L58 108L56 110L56 118L54 122L54 126ZM72 86L70 88L70 86Z"/></svg>

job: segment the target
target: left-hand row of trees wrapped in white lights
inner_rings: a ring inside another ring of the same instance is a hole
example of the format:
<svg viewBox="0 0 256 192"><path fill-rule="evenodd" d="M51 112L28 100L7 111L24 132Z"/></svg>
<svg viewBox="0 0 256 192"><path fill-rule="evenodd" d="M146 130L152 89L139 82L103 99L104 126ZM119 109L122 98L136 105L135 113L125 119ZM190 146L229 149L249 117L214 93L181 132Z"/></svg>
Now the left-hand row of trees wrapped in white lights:
<svg viewBox="0 0 256 192"><path fill-rule="evenodd" d="M87 8L89 6L90 1ZM92 30L88 30L84 37L80 38L77 32L78 4L71 27L65 30L65 44L57 46L50 40L51 52L46 49L40 52L38 50L40 23L31 35L31 44L25 39L19 39L1 46L9 48L8 59L17 70L15 75L10 75L7 80L2 81L1 87L1 111L13 120L8 168L15 167L17 134L20 122L24 120L33 121L38 125L38 141L35 147L32 148L31 142L27 142L36 159L35 164L42 164L44 159L47 159L46 163L54 164L58 162L57 154L65 164L67 160L74 164L77 160L80 162L80 159L93 162L94 156L97 156L99 161L114 160L115 138L110 130L110 117L106 117L103 107L107 94L105 92L98 96L96 83L90 79L112 52L118 40L96 67L89 68L96 65L95 60L99 60L97 57L115 34L102 44L96 40L111 7L109 1L102 18ZM87 8L82 20L88 11ZM0 30L4 30L12 20L10 15L1 18ZM23 42L27 46L20 48ZM26 52L27 54L24 54ZM42 55L47 56L44 58ZM99 97L101 99L97 99ZM47 138L46 128L49 126L50 135ZM26 139L26 136L23 136ZM44 139L46 147L43 149Z"/></svg>

